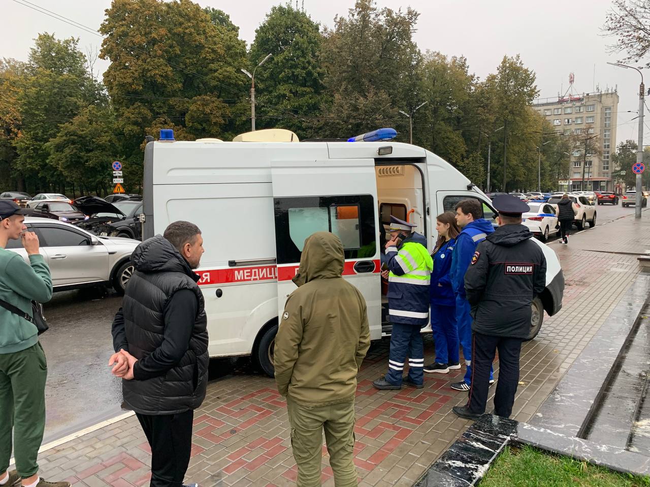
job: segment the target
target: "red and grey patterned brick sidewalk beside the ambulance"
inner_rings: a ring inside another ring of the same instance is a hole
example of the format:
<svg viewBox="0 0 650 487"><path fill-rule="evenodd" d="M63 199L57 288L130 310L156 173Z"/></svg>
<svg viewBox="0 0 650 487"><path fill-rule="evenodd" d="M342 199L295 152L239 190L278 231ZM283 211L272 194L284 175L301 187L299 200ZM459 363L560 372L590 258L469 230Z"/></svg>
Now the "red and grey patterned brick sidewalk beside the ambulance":
<svg viewBox="0 0 650 487"><path fill-rule="evenodd" d="M576 234L569 245L552 243L564 268L564 308L545 317L538 338L524 345L521 383L513 416L528 421L575 357L604 323L638 273L636 256L650 242L650 223L623 218ZM604 242L604 243L603 243ZM423 389L378 391L372 380L387 364L388 340L375 344L359 373L355 463L360 485L411 486L464 431L469 421L451 406L467 393L448 387L464 370L426 375ZM425 340L425 361L433 343ZM495 369L498 377L498 368ZM491 390L493 392L493 388ZM194 447L187 481L208 486L285 487L296 481L285 401L274 381L238 375L213 382L194 419ZM40 455L46 479L75 486L131 487L149 481L150 451L135 417L122 419ZM322 481L333 486L323 448Z"/></svg>

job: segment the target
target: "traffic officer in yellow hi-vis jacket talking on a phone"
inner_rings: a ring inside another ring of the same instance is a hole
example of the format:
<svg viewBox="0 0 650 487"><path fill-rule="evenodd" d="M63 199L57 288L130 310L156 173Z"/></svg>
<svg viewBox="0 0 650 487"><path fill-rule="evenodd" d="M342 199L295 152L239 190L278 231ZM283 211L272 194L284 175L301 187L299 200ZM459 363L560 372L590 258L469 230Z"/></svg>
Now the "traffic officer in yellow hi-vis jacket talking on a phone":
<svg viewBox="0 0 650 487"><path fill-rule="evenodd" d="M434 262L426 238L415 232L414 223L391 216L391 240L386 242L388 314L393 331L388 373L372 382L378 389L424 386L424 346L420 330L429 323L429 282ZM402 378L406 356L408 377Z"/></svg>

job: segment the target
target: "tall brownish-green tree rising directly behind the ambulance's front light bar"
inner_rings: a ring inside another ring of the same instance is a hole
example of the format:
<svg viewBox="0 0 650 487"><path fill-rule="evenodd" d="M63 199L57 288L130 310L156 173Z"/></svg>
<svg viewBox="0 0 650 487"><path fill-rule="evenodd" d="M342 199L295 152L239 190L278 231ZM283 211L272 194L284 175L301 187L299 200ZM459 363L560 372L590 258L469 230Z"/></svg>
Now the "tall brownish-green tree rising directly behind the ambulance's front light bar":
<svg viewBox="0 0 650 487"><path fill-rule="evenodd" d="M345 137L401 121L398 110L414 103L404 92L412 87L409 74L418 58L418 16L410 7L380 10L372 0L357 0L347 17L334 19L333 29L324 32L330 99L322 106L322 136Z"/></svg>

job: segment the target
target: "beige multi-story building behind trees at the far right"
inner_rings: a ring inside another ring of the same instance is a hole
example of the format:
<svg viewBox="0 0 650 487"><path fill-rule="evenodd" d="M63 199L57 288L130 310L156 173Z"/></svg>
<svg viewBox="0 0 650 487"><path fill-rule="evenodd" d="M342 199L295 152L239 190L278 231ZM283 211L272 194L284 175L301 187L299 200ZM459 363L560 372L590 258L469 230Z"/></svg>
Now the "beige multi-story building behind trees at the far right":
<svg viewBox="0 0 650 487"><path fill-rule="evenodd" d="M593 142L598 145L601 154L593 153L586 157L584 190L614 191L611 156L616 152L616 90L539 98L534 101L533 107L551 123L558 134L575 135L582 140L589 134L595 136ZM560 190L580 190L583 163L584 151L576 147L570 157L569 180L565 181Z"/></svg>

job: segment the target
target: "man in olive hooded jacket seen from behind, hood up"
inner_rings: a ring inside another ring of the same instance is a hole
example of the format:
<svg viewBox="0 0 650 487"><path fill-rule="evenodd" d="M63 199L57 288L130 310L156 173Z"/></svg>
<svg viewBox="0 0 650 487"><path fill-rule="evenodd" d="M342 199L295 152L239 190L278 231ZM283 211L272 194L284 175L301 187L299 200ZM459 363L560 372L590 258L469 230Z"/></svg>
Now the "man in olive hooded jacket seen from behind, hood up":
<svg viewBox="0 0 650 487"><path fill-rule="evenodd" d="M305 240L300 268L279 318L276 383L287 397L298 487L320 487L322 432L337 487L357 485L354 396L370 347L363 295L341 276L343 244L317 232Z"/></svg>

